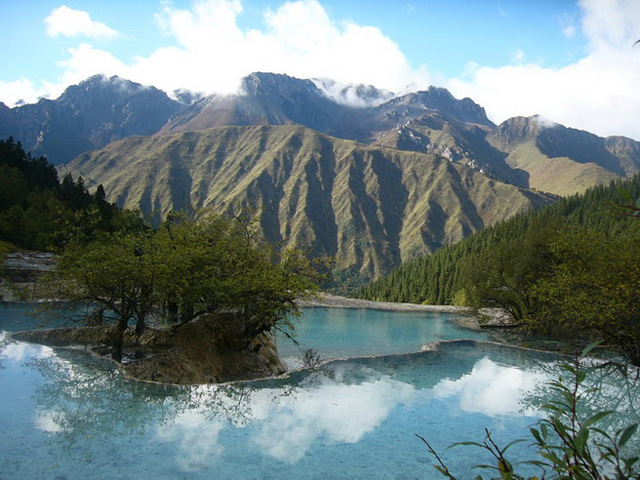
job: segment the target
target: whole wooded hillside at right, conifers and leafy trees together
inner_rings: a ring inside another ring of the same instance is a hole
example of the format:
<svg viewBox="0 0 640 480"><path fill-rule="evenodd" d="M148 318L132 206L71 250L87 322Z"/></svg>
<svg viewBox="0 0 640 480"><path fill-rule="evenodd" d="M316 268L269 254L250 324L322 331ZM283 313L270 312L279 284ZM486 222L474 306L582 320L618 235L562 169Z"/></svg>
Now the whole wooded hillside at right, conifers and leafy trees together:
<svg viewBox="0 0 640 480"><path fill-rule="evenodd" d="M640 365L640 178L476 233L409 262L359 295L499 307L525 331L601 341Z"/></svg>

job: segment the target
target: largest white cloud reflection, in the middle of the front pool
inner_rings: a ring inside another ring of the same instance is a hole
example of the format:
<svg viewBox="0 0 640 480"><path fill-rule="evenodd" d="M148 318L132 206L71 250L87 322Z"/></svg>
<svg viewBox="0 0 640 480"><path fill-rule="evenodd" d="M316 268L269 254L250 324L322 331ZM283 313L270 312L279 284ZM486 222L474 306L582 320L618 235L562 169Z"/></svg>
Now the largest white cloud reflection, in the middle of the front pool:
<svg viewBox="0 0 640 480"><path fill-rule="evenodd" d="M212 457L220 456L223 447L218 444L219 436L233 424L246 429L249 443L261 453L294 464L315 441L360 441L381 425L397 405L411 402L416 395L415 387L388 376L377 375L358 384L343 383L339 377L312 374L285 395L282 389L253 390L244 397L247 403L239 420L210 418L204 401L202 407L179 414L170 424L160 427L158 439L176 442L180 467L197 470ZM230 395L222 399L219 393L215 389L210 392L217 395L218 404L233 407L237 398Z"/></svg>

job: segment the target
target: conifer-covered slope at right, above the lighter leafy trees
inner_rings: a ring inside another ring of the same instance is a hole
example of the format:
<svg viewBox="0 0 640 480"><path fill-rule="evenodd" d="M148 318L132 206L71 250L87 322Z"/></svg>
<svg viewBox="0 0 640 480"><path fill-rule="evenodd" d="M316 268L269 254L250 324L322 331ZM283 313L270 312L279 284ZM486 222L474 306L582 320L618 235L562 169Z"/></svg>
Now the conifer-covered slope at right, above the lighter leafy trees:
<svg viewBox="0 0 640 480"><path fill-rule="evenodd" d="M404 263L389 275L355 292L360 298L392 302L456 304L462 286L459 275L466 265L487 252L497 251L501 242L523 246L535 229L578 226L606 235L634 234L640 221L612 208L640 198L640 176L588 189L584 194L563 198L553 205L517 215L432 255ZM627 212L628 213L628 212ZM521 250L520 250L521 251Z"/></svg>

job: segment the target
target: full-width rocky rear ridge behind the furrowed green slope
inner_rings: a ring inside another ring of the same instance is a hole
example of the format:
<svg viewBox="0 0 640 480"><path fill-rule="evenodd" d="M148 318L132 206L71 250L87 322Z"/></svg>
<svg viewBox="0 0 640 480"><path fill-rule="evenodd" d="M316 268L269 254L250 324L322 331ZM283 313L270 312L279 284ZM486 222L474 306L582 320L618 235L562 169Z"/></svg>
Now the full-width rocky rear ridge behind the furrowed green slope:
<svg viewBox="0 0 640 480"><path fill-rule="evenodd" d="M440 155L491 178L556 195L640 170L635 140L602 138L538 116L494 125L473 100L433 86L394 96L373 86L256 72L243 79L240 94L174 94L182 101L153 87L94 76L57 100L0 106L0 136L13 136L32 153L60 164L132 134L303 125L373 146ZM348 97L351 105L340 101Z"/></svg>

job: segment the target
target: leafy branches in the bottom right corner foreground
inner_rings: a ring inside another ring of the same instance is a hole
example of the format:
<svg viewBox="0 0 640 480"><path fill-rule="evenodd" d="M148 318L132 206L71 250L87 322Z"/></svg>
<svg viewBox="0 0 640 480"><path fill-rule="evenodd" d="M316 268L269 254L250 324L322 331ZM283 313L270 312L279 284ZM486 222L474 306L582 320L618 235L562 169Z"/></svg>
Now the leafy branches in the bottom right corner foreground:
<svg viewBox="0 0 640 480"><path fill-rule="evenodd" d="M486 450L494 458L495 465L476 465L475 468L494 470L499 475L497 478L502 480L640 479L638 456L625 453L625 447L631 445L630 441L636 434L638 423L625 425L614 433L603 426L603 421L615 413L613 410L596 411L586 418L583 413L585 397L593 393L594 388L586 385L589 370L582 358L596 345L588 346L573 363L561 365L561 370L568 374L566 378L559 377L547 383L551 400L542 408L548 416L529 429L531 439L519 439L500 447L491 432L485 430L483 442L458 442L449 448L474 446ZM416 436L436 459L433 467L445 478L457 480L429 442L420 435ZM516 465L539 468L540 476L517 473L506 455L513 445L530 440L539 458L520 461ZM483 478L481 475L475 477L476 480Z"/></svg>

